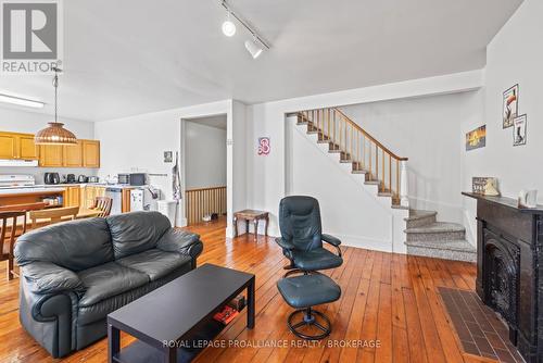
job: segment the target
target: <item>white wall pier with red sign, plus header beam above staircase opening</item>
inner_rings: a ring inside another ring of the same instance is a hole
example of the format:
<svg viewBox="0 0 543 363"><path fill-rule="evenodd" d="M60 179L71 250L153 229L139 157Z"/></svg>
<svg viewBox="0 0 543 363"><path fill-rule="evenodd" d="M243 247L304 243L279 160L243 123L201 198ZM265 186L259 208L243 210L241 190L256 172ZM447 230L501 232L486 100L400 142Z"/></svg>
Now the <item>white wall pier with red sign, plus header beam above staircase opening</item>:
<svg viewBox="0 0 543 363"><path fill-rule="evenodd" d="M279 201L286 195L285 115L287 113L342 104L464 92L481 86L482 73L473 71L248 107L248 206L269 211L272 216L269 233L279 235L277 212ZM272 151L267 157L256 153L256 139L262 136L270 137Z"/></svg>

